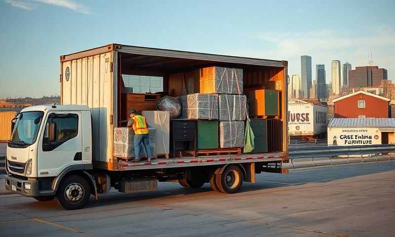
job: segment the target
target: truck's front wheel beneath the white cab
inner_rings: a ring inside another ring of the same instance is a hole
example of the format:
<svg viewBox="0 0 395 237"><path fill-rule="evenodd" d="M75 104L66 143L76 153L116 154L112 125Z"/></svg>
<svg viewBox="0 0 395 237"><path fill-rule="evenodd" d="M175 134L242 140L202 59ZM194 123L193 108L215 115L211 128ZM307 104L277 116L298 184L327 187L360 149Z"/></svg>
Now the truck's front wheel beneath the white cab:
<svg viewBox="0 0 395 237"><path fill-rule="evenodd" d="M88 181L79 175L70 175L61 183L56 193L56 200L67 210L82 208L90 197Z"/></svg>

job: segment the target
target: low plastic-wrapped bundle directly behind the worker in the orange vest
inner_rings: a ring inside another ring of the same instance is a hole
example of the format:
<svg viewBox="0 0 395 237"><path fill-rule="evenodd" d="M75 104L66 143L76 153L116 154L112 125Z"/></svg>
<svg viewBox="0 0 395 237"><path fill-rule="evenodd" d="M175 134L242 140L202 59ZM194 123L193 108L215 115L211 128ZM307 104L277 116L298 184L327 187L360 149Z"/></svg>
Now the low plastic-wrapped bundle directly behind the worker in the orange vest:
<svg viewBox="0 0 395 237"><path fill-rule="evenodd" d="M150 131L148 137L150 139L150 149L153 156L156 156L156 130L149 127ZM114 128L114 156L121 158L134 158L134 133L133 129L129 127L116 127ZM141 149L140 157L147 157L144 148Z"/></svg>

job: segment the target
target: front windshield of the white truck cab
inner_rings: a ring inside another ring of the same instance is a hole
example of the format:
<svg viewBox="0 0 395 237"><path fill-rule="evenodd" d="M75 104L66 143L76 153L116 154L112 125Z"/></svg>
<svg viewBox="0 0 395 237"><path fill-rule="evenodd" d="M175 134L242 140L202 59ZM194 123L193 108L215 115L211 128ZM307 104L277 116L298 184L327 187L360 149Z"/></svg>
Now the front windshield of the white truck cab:
<svg viewBox="0 0 395 237"><path fill-rule="evenodd" d="M29 146L36 142L44 112L23 112L17 116L10 145Z"/></svg>

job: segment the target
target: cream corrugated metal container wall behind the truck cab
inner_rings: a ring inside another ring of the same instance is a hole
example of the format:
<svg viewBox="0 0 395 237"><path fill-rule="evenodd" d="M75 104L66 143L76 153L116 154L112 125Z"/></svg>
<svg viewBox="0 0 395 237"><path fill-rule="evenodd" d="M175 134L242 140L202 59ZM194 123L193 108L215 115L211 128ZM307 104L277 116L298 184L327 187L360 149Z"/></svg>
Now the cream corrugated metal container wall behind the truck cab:
<svg viewBox="0 0 395 237"><path fill-rule="evenodd" d="M112 158L113 62L114 51L61 62L61 103L90 108L95 161L108 162Z"/></svg>

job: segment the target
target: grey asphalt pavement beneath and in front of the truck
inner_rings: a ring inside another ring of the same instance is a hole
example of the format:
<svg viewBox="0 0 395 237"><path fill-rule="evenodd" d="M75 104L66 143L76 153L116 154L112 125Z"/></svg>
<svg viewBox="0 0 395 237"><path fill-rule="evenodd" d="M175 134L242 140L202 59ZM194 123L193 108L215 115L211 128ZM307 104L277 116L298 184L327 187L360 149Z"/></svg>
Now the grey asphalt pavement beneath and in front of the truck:
<svg viewBox="0 0 395 237"><path fill-rule="evenodd" d="M0 195L0 236L390 237L395 233L395 162L262 173L237 194L206 184L91 198L81 210L56 201ZM2 185L3 180L0 180Z"/></svg>

